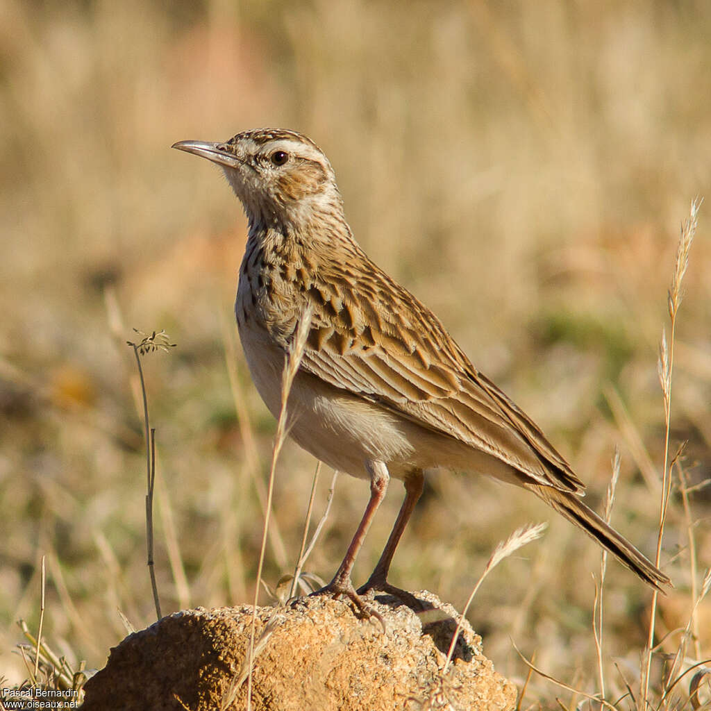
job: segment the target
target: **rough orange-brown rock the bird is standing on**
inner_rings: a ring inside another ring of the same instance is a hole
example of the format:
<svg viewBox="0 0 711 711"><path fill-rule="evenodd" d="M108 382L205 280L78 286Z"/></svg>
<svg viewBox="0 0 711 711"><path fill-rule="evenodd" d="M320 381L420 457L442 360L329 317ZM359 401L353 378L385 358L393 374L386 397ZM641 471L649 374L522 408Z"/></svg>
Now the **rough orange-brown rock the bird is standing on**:
<svg viewBox="0 0 711 711"><path fill-rule="evenodd" d="M459 614L429 592L424 611L392 597L372 603L385 621L355 616L328 597L257 609L252 709L394 711L513 709L513 684L481 653L465 621L442 678ZM85 686L84 711L243 710L252 607L198 608L128 636ZM243 675L242 675L243 676Z"/></svg>

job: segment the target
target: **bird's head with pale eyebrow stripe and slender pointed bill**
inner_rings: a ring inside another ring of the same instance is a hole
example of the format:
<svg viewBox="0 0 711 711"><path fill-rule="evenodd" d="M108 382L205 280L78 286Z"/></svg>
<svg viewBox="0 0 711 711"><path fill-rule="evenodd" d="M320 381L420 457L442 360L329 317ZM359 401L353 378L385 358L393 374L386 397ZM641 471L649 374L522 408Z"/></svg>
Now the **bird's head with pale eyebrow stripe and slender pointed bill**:
<svg viewBox="0 0 711 711"><path fill-rule="evenodd" d="M256 129L225 143L179 141L173 148L218 164L252 225L300 228L314 215L342 213L331 164L314 141L295 131Z"/></svg>

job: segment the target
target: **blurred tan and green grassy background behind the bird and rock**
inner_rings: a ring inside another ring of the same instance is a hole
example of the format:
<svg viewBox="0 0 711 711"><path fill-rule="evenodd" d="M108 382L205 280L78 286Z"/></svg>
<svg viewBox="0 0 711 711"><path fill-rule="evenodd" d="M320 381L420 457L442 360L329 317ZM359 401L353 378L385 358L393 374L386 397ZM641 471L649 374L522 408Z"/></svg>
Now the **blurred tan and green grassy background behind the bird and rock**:
<svg viewBox="0 0 711 711"><path fill-rule="evenodd" d="M36 629L42 555L44 636L73 663L104 665L126 634L118 611L137 629L154 621L132 328L164 328L177 344L143 361L163 612L252 599L275 425L232 315L246 225L214 166L170 150L182 139L262 126L312 137L365 250L540 424L598 509L619 447L613 523L653 555L658 344L680 224L695 196L710 197L710 4L2 0L1 9L0 676L26 676L11 652L18 619ZM672 447L688 440L692 484L711 466L708 210L675 344ZM293 570L314 466L284 449L272 587ZM330 482L322 472L316 518ZM673 493L663 564L676 588L660 634L690 611L690 528L700 569L711 563L709 491L690 496L692 526ZM401 496L393 482L356 584ZM338 479L307 570L330 579L367 498L362 481ZM391 579L461 609L496 542L539 520L550 520L545 538L488 577L469 617L512 680L526 674L513 639L592 691L599 549L530 494L433 476ZM649 598L609 565L605 663L620 685L612 663L638 673ZM708 636L702 643L708 656ZM534 682L528 695L555 695Z"/></svg>

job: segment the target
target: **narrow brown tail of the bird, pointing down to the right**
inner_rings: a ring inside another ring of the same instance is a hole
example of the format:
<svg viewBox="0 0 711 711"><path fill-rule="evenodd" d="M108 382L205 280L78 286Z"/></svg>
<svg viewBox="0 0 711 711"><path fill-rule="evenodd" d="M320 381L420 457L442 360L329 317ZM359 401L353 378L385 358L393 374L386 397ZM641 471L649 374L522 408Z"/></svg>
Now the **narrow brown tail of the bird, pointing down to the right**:
<svg viewBox="0 0 711 711"><path fill-rule="evenodd" d="M585 506L574 493L560 491L552 486L537 486L528 484L536 496L549 504L567 520L582 528L591 538L597 540L602 547L609 550L622 565L636 573L646 584L664 592L662 585L671 585L670 579L656 565L639 552L629 540L607 525L597 513Z"/></svg>

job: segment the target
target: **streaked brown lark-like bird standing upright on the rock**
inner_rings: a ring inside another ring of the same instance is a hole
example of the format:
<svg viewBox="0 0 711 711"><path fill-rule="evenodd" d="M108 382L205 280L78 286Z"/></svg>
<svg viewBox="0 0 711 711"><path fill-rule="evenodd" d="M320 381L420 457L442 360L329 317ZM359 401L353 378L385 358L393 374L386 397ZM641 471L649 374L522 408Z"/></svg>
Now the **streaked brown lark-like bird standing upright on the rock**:
<svg viewBox="0 0 711 711"><path fill-rule="evenodd" d="M217 164L248 221L235 316L252 380L274 417L285 355L307 336L289 391L289 435L328 466L370 483L370 497L333 579L316 594L383 591L424 477L447 468L523 487L663 592L670 579L586 506L584 483L540 428L483 375L427 306L365 254L346 222L331 163L296 131L252 129L174 149ZM308 323L304 323L309 319ZM387 491L405 498L380 559L356 590L356 556Z"/></svg>

